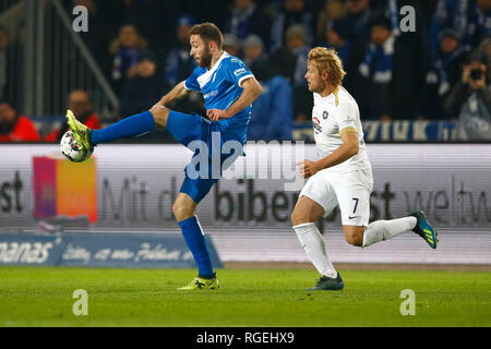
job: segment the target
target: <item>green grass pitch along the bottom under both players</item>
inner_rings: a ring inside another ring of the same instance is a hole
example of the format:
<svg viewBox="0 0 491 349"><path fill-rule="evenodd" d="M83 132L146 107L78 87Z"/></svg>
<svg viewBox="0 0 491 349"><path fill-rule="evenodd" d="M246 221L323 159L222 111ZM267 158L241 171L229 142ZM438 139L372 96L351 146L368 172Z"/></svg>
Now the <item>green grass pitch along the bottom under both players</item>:
<svg viewBox="0 0 491 349"><path fill-rule="evenodd" d="M219 269L220 289L182 292L190 269L0 267L0 326L490 326L491 274L340 270L343 291L309 292L314 270ZM73 291L88 315L72 313ZM399 312L400 291L416 314Z"/></svg>

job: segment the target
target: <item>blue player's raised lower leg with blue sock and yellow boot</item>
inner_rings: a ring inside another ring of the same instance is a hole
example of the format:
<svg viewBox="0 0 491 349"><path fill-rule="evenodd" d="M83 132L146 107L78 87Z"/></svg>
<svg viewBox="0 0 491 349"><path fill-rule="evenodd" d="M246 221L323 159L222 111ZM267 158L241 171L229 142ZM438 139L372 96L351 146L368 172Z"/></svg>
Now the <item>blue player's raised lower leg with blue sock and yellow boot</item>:
<svg viewBox="0 0 491 349"><path fill-rule="evenodd" d="M131 116L101 130L91 130L76 120L71 110L67 111L67 122L79 144L87 149L97 144L140 136L155 131L155 119L151 111Z"/></svg>

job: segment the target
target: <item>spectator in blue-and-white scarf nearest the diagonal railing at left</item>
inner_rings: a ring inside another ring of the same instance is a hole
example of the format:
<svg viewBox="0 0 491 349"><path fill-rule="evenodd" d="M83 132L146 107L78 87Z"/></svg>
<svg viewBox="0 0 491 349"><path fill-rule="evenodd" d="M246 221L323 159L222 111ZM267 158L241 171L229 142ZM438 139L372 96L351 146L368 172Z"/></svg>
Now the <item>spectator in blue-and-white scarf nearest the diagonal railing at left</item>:
<svg viewBox="0 0 491 349"><path fill-rule="evenodd" d="M139 56L146 47L146 40L134 25L125 24L120 28L118 38L111 43L109 49L110 53L115 55L112 81L117 92L136 75Z"/></svg>

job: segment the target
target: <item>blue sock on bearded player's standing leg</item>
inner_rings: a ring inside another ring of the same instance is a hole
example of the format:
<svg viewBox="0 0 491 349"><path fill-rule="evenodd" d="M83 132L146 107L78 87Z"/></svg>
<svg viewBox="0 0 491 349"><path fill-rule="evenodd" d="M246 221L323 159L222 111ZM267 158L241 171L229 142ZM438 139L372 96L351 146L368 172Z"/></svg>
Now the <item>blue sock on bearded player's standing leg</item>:
<svg viewBox="0 0 491 349"><path fill-rule="evenodd" d="M191 250L197 264L197 274L202 277L213 277L212 260L209 258L206 241L196 216L179 222L188 248Z"/></svg>

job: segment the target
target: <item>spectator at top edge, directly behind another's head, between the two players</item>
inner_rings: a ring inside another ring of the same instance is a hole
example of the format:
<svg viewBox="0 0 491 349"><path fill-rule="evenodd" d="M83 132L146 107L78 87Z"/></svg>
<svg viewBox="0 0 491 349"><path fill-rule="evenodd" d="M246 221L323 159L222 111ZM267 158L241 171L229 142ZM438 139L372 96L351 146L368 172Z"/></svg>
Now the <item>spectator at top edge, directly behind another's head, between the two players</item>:
<svg viewBox="0 0 491 349"><path fill-rule="evenodd" d="M307 8L306 0L285 0L283 9L273 17L271 28L271 51L279 49L286 37L286 32L292 25L303 25L306 31L306 44L309 46L314 38L314 16Z"/></svg>

